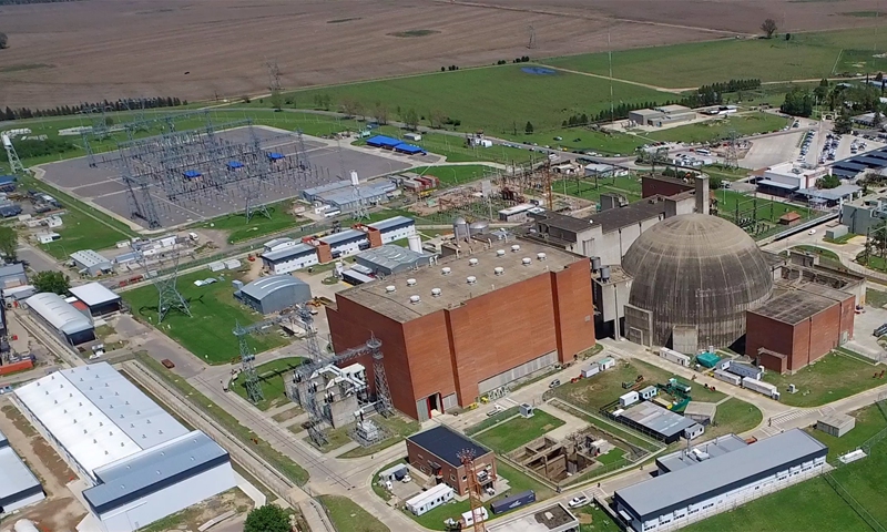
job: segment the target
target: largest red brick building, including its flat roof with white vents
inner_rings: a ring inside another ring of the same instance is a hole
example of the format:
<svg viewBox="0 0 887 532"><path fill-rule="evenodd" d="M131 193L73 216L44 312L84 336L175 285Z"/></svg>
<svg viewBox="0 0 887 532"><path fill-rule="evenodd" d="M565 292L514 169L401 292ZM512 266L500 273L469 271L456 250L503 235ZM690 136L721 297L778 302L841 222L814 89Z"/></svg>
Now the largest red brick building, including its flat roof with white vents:
<svg viewBox="0 0 887 532"><path fill-rule="evenodd" d="M336 294L335 349L375 334L394 406L424 421L594 346L589 259L498 244L466 243L437 266ZM371 360L358 361L371 371Z"/></svg>

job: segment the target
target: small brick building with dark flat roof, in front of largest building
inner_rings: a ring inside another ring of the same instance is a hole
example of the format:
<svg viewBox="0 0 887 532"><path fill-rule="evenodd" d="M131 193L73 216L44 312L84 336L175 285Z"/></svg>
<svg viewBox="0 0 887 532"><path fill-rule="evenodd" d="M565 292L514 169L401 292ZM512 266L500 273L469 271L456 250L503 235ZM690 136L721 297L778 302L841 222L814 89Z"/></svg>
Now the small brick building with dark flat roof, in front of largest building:
<svg viewBox="0 0 887 532"><path fill-rule="evenodd" d="M496 456L465 436L446 426L437 426L407 438L409 464L456 490L468 494L466 469L457 456L462 450L475 451L475 471L481 490L496 481Z"/></svg>

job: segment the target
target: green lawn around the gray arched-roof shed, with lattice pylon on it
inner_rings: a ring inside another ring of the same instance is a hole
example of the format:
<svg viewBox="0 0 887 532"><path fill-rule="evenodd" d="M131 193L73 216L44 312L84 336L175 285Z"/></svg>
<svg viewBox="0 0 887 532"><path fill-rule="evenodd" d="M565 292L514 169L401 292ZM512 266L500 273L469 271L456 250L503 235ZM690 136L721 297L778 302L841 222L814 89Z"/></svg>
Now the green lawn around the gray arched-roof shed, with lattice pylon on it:
<svg viewBox="0 0 887 532"><path fill-rule="evenodd" d="M208 286L194 286L197 279L215 277L218 283ZM171 310L159 329L181 344L194 356L208 364L227 364L239 352L234 337L234 325L248 325L259 321L262 316L234 300L231 286L237 274L213 274L202 269L179 278L179 290L191 306L193 317ZM121 294L132 307L133 315L145 321L157 323L157 289L151 285ZM281 347L286 340L274 334L252 335L247 344L256 351ZM261 359L259 359L261 364Z"/></svg>

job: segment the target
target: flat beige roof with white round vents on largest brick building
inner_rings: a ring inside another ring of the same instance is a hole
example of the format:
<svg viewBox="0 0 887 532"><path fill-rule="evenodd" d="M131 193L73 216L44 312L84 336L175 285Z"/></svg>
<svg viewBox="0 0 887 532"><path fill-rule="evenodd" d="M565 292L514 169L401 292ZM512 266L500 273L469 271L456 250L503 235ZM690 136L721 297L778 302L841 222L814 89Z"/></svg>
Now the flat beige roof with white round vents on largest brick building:
<svg viewBox="0 0 887 532"><path fill-rule="evenodd" d="M388 276L384 283L348 288L336 294L336 297L406 323L438 310L458 307L469 299L538 275L559 272L573 263L588 260L585 257L526 239L495 242L489 249L485 249L480 243L473 243L472 246L473 253L462 245L459 257L449 256L438 260L435 266ZM512 246L520 246L520 249L514 252ZM503 252L502 255L499 255L500 250ZM540 253L544 254L544 260L538 258ZM529 259L528 265L523 264L524 258ZM477 260L473 266L470 263L472 259ZM502 275L496 275L496 267L503 268ZM450 268L447 275L443 275L443 268ZM473 277L475 282L469 284L468 277ZM415 284L410 286L408 279L415 280ZM396 290L388 291L388 286L394 286ZM440 289L439 296L431 295L434 288ZM411 303L411 296L419 296L420 300Z"/></svg>

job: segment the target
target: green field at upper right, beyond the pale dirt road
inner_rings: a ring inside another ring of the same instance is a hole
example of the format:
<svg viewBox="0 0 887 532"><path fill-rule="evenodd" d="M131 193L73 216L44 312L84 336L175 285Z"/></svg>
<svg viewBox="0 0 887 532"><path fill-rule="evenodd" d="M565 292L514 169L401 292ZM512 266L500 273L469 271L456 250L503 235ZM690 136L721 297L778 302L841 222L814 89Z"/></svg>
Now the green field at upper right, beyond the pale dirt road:
<svg viewBox="0 0 887 532"><path fill-rule="evenodd" d="M883 51L886 48L886 32L855 29L793 33L788 42L783 39L722 39L614 51L613 76L671 89L697 88L731 79L756 78L764 82L820 79L834 72L875 72L880 65L874 58L877 52L866 53L864 50ZM541 62L609 75L606 53L554 58ZM880 70L885 68L880 66ZM651 72L655 72L655 75L651 75Z"/></svg>

